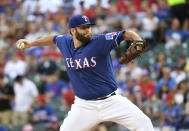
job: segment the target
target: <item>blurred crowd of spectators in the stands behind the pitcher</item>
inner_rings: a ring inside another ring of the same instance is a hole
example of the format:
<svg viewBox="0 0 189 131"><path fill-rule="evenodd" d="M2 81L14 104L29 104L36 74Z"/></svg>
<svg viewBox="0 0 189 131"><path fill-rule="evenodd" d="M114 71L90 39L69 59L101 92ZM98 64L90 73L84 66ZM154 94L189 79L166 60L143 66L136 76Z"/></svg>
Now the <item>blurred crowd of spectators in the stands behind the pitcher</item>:
<svg viewBox="0 0 189 131"><path fill-rule="evenodd" d="M189 55L179 52L173 66L164 53L189 46L187 0L0 0L0 125L5 125L0 130L8 125L32 131L44 123L42 129L58 130L74 101L63 57L56 47L21 51L15 42L69 34L69 18L75 14L95 23L94 35L136 31L152 56L163 45L151 66L120 65L120 50L111 51L118 93L143 110L157 130L189 130ZM111 130L110 125L93 130Z"/></svg>

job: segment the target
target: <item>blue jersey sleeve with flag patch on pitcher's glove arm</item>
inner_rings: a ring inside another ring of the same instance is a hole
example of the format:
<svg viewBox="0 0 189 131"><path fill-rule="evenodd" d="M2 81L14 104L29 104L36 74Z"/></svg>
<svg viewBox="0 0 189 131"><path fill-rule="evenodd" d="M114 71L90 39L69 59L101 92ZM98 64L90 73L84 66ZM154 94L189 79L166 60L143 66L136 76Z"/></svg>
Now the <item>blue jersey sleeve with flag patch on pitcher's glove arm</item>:
<svg viewBox="0 0 189 131"><path fill-rule="evenodd" d="M100 48L103 51L111 51L111 49L118 47L123 39L123 33L125 31L111 32L107 34L99 35Z"/></svg>

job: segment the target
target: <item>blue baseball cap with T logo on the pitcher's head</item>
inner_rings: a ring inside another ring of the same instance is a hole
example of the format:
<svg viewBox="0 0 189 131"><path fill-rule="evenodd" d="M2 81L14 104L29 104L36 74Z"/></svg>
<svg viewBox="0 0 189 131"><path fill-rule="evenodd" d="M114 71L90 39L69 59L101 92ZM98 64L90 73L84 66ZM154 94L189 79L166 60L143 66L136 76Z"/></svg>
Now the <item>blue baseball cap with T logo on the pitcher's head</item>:
<svg viewBox="0 0 189 131"><path fill-rule="evenodd" d="M75 15L70 19L69 28L75 28L83 25L94 25L85 15Z"/></svg>

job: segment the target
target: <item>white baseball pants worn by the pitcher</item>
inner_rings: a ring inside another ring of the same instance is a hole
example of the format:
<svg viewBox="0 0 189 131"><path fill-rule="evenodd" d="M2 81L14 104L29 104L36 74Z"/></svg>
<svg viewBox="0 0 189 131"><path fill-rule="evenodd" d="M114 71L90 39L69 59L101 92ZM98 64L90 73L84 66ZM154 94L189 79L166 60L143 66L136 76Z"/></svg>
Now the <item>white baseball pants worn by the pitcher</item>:
<svg viewBox="0 0 189 131"><path fill-rule="evenodd" d="M127 98L118 94L97 101L76 97L60 131L90 131L104 121L118 123L131 131L154 131L151 120Z"/></svg>

